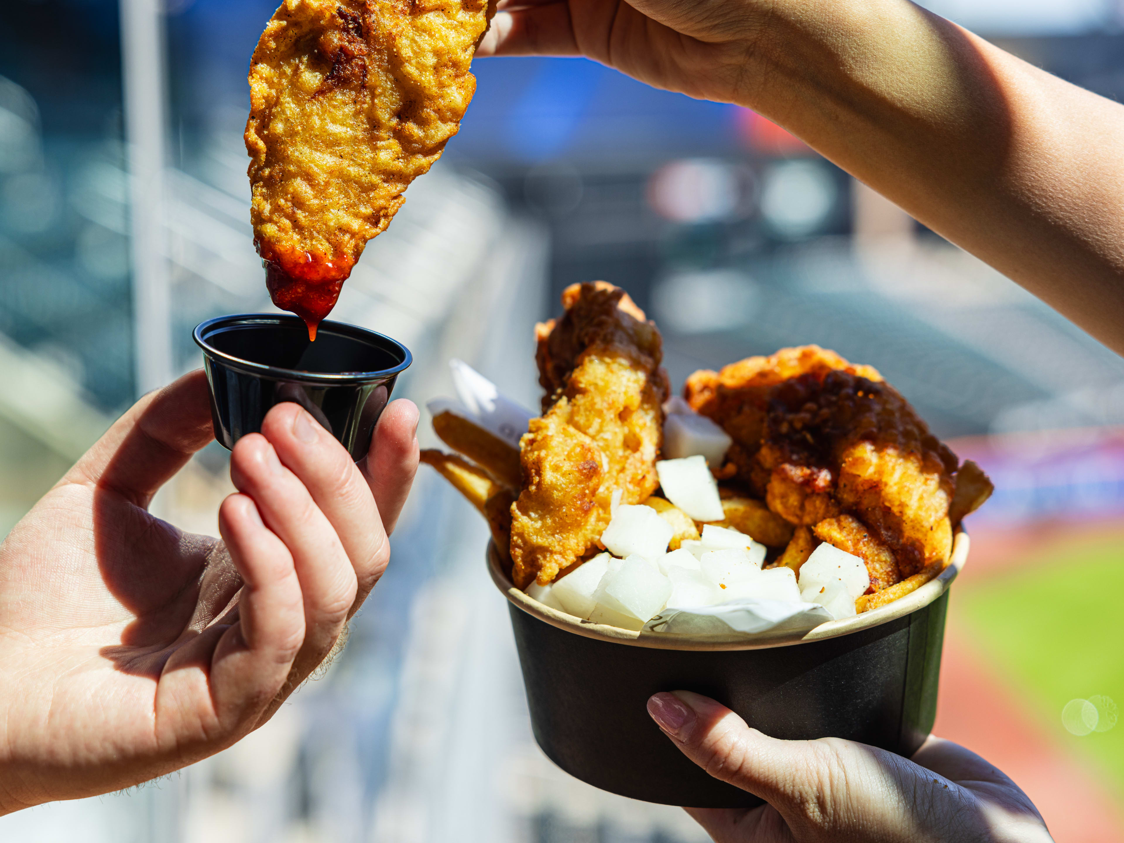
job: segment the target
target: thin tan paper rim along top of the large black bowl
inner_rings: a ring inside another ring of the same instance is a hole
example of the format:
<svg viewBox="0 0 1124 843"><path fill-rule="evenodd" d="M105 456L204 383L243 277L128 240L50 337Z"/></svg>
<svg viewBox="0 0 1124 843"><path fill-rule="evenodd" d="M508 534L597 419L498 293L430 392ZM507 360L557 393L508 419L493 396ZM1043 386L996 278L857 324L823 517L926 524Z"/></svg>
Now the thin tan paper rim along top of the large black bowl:
<svg viewBox="0 0 1124 843"><path fill-rule="evenodd" d="M765 633L749 642L737 640L737 633L724 636L635 632L633 629L622 629L617 626L582 620L564 611L552 609L550 606L538 602L538 600L528 597L522 590L517 589L511 582L510 577L504 571L502 561L500 560L495 542L488 542L487 559L488 572L491 574L492 582L496 583L496 588L504 593L508 601L528 615L534 615L551 626L565 629L575 635L617 644L653 647L655 650L761 650L764 647L791 646L813 641L837 638L841 635L850 635L861 629L888 624L891 620L917 611L917 609L928 606L941 597L948 590L949 586L952 584L952 581L968 561L969 546L968 533L962 528L959 529L952 545L952 555L944 570L921 588L910 591L905 597L899 597L892 602L886 604L886 606L880 606L877 609L864 611L854 617L843 618L842 620L828 620L806 633L781 632L774 635Z"/></svg>

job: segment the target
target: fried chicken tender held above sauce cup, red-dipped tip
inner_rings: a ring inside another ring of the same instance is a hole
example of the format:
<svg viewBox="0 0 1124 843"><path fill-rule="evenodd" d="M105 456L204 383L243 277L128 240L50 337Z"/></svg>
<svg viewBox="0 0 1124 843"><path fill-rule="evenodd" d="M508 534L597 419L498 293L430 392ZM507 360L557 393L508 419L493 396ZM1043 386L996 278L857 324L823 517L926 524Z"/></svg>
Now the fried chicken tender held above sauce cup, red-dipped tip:
<svg viewBox="0 0 1124 843"><path fill-rule="evenodd" d="M335 305L475 91L488 0L284 0L250 67L251 219L273 302Z"/></svg>

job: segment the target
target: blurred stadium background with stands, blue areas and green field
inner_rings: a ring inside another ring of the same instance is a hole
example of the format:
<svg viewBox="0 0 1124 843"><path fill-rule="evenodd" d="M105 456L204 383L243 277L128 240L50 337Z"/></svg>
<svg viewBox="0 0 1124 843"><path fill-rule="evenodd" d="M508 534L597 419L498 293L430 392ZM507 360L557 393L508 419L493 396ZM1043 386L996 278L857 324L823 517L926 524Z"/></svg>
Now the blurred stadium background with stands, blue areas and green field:
<svg viewBox="0 0 1124 843"><path fill-rule="evenodd" d="M925 4L1124 96L1116 0ZM273 2L3 7L0 536L138 393L199 364L197 321L271 307L242 129ZM419 404L450 392L459 356L533 405L532 323L598 278L660 323L676 383L809 342L878 366L997 484L954 589L937 732L1013 776L1058 841L1124 840L1124 362L750 111L582 60L474 71L460 136L334 318L409 345L400 395ZM156 506L214 532L228 489L212 445ZM706 840L535 747L486 536L423 469L325 677L182 774L0 818L0 839Z"/></svg>

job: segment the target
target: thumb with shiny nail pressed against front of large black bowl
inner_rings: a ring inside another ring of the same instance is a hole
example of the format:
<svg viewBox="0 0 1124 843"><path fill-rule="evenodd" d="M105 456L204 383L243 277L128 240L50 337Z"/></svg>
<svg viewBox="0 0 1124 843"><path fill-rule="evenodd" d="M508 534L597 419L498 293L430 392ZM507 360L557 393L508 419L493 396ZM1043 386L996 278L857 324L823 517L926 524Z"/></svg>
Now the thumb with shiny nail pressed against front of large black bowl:
<svg viewBox="0 0 1124 843"><path fill-rule="evenodd" d="M716 779L764 799L797 839L801 831L822 827L840 807L832 785L845 778L845 741L779 741L691 691L656 694L647 710L687 758Z"/></svg>

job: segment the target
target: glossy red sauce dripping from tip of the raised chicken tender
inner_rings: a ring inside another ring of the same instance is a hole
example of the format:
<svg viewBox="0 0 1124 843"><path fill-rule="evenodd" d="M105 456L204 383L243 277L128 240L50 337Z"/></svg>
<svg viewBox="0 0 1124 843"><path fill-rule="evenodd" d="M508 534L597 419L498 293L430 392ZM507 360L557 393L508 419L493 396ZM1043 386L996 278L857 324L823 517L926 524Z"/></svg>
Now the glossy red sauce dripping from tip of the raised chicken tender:
<svg viewBox="0 0 1124 843"><path fill-rule="evenodd" d="M296 314L308 326L308 338L316 339L316 328L339 298L339 289L351 275L350 257L327 260L310 252L289 252L256 243L265 262L265 285L273 303Z"/></svg>

